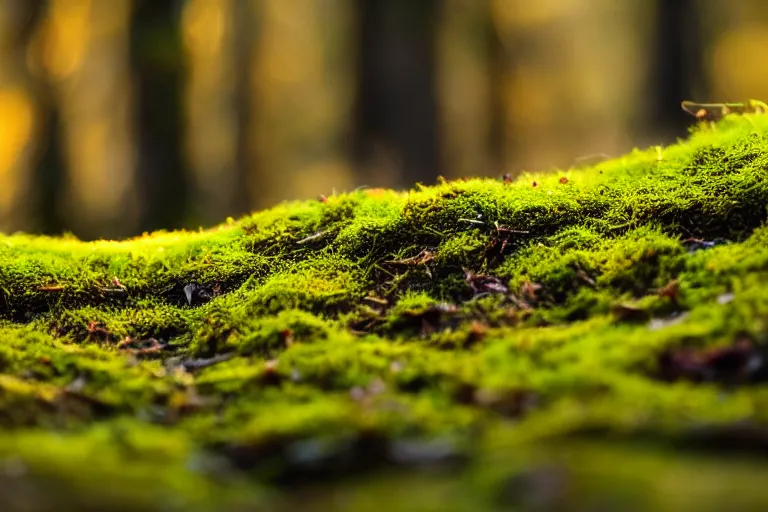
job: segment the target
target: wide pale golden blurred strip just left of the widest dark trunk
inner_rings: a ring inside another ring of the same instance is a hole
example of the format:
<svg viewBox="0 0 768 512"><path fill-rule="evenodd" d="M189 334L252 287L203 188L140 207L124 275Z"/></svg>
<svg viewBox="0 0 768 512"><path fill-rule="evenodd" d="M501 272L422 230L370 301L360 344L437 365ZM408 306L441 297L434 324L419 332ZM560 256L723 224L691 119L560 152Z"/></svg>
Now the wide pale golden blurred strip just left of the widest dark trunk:
<svg viewBox="0 0 768 512"><path fill-rule="evenodd" d="M351 0L252 1L251 68L241 79L250 81L248 161L258 173L249 179L253 206L344 190L352 185L344 160Z"/></svg>

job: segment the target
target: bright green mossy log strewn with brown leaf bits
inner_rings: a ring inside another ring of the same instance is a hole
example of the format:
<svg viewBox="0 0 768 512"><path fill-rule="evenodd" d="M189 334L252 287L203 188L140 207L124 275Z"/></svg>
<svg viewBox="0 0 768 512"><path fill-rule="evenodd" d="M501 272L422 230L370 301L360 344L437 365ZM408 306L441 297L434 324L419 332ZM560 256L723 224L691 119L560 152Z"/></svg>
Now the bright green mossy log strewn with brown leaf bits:
<svg viewBox="0 0 768 512"><path fill-rule="evenodd" d="M768 116L0 237L2 510L768 510Z"/></svg>

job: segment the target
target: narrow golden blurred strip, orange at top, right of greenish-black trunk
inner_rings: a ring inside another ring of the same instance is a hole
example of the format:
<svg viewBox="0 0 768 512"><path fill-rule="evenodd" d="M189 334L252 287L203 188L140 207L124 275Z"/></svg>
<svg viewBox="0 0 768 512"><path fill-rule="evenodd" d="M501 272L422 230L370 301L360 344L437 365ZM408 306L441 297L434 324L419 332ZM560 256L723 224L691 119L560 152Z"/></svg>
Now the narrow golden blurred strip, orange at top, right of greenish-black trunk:
<svg viewBox="0 0 768 512"><path fill-rule="evenodd" d="M195 223L214 224L248 207L253 21L246 1L188 0L184 7L186 157L194 178L189 220Z"/></svg>

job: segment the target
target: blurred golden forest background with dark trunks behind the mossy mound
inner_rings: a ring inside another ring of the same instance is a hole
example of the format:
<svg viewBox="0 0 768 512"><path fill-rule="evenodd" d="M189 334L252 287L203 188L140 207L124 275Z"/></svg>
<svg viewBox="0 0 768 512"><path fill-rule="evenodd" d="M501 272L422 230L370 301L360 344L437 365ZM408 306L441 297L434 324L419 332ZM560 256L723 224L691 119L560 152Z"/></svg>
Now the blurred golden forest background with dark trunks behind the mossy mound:
<svg viewBox="0 0 768 512"><path fill-rule="evenodd" d="M567 168L767 99L767 52L764 0L0 0L0 230Z"/></svg>

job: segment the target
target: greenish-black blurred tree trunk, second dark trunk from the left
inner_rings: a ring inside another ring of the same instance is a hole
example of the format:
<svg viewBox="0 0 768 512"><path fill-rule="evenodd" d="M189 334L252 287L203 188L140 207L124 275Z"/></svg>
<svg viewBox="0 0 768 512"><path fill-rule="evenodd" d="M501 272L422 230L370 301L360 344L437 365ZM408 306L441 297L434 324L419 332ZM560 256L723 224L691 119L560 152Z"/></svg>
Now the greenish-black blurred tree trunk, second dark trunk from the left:
<svg viewBox="0 0 768 512"><path fill-rule="evenodd" d="M131 20L142 231L179 228L188 214L179 5L138 0Z"/></svg>

